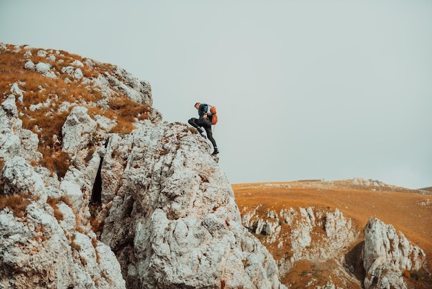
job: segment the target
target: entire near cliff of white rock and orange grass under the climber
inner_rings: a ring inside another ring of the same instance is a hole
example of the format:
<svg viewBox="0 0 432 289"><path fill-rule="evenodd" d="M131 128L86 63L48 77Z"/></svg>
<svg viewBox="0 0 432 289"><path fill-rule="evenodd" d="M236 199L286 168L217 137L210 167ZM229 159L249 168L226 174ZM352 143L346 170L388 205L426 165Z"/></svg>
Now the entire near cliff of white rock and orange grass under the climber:
<svg viewBox="0 0 432 289"><path fill-rule="evenodd" d="M0 52L2 288L284 288L208 143L162 123L148 83Z"/></svg>

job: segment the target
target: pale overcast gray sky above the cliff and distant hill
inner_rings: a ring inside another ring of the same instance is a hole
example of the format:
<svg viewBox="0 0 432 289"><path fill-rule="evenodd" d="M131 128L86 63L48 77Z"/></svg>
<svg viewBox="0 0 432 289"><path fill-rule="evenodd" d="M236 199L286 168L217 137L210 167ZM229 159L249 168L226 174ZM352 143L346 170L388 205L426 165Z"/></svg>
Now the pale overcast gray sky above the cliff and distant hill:
<svg viewBox="0 0 432 289"><path fill-rule="evenodd" d="M0 0L0 41L120 66L168 122L217 106L230 183L432 186L430 0Z"/></svg>

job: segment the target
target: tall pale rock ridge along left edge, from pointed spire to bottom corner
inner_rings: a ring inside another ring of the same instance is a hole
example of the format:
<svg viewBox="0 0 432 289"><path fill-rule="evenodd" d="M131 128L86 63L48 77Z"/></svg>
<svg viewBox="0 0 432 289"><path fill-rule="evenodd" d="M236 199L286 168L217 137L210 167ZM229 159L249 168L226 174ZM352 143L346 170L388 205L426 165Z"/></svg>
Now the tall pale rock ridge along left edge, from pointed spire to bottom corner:
<svg viewBox="0 0 432 289"><path fill-rule="evenodd" d="M30 165L40 158L37 135L22 129L14 100L0 108L0 287L125 288L115 254L60 201L67 191L57 178ZM57 200L52 207L48 198Z"/></svg>

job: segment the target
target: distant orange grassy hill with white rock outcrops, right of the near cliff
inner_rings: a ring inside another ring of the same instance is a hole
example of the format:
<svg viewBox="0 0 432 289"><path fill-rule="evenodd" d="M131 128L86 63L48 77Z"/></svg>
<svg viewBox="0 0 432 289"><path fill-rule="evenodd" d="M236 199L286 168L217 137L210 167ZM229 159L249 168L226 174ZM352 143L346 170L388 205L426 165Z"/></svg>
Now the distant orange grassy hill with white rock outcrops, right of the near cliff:
<svg viewBox="0 0 432 289"><path fill-rule="evenodd" d="M432 286L431 194L424 189L361 178L233 188L242 223L273 254L288 288Z"/></svg>

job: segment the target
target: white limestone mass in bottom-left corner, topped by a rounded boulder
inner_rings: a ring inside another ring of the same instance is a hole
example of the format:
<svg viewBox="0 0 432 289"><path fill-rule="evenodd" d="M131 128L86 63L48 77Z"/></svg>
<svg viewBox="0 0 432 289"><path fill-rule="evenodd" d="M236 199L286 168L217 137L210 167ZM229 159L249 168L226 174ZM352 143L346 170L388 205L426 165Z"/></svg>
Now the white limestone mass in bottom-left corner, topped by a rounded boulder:
<svg viewBox="0 0 432 289"><path fill-rule="evenodd" d="M48 188L23 158L8 160L1 179L6 198L28 202L0 211L1 288L125 288L115 255L77 225L68 205L46 203Z"/></svg>

